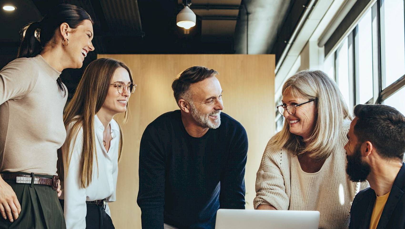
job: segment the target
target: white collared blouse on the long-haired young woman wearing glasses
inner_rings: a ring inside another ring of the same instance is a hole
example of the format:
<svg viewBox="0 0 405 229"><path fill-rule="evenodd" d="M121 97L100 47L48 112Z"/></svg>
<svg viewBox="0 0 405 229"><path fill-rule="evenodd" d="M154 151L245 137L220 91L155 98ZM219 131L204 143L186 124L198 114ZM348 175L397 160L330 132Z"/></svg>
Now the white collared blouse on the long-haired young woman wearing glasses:
<svg viewBox="0 0 405 229"><path fill-rule="evenodd" d="M70 123L66 128L67 136L69 135L74 123ZM68 168L68 174L64 175L62 182L62 195L64 199L64 215L66 229L85 229L86 228L86 201L107 199L107 202L115 201L115 189L117 187L118 175L118 148L119 148L119 126L115 120L111 120L110 148L107 152L102 144L104 126L94 117L94 133L96 142L96 153L98 159L98 176L97 165L94 157L92 182L87 188L81 188L81 155L83 147L83 128L79 129L76 139L73 137L70 146L74 144L72 158ZM75 141L76 140L76 141ZM66 139L68 141L68 139ZM73 142L75 141L75 142ZM67 144L67 142L65 142ZM66 156L63 153L63 164L66 166ZM65 170L66 171L66 170ZM111 216L108 205L105 211Z"/></svg>

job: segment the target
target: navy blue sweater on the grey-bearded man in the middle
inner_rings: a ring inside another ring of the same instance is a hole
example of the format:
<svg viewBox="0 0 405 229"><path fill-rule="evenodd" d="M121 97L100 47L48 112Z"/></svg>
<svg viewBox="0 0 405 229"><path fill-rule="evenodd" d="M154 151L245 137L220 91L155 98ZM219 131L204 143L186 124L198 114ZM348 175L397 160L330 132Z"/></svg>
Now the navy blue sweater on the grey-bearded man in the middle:
<svg viewBox="0 0 405 229"><path fill-rule="evenodd" d="M244 209L246 159L246 131L225 113L220 127L198 138L185 130L180 110L159 116L139 150L142 228L214 228L219 208Z"/></svg>

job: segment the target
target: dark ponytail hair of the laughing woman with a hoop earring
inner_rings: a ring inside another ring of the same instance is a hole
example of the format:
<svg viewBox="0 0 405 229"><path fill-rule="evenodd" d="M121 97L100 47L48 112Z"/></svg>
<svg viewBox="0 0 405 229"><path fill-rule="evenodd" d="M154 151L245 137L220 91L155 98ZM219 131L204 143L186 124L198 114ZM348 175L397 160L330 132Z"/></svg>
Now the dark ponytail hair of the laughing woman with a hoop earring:
<svg viewBox="0 0 405 229"><path fill-rule="evenodd" d="M77 28L84 20L94 23L90 15L79 6L59 4L49 10L41 21L31 22L20 30L21 45L18 48L17 58L34 57L51 41L60 24L66 22L70 28ZM62 80L56 80L61 91L65 88ZM66 92L65 92L66 95Z"/></svg>

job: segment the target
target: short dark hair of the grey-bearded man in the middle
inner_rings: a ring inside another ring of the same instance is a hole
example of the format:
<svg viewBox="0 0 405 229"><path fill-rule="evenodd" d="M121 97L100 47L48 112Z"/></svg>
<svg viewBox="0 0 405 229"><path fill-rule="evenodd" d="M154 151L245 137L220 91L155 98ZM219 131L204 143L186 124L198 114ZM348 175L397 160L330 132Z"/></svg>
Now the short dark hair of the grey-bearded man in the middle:
<svg viewBox="0 0 405 229"><path fill-rule="evenodd" d="M184 70L172 83L173 94L176 102L187 96L190 84L203 81L204 79L213 77L217 74L218 72L214 69L209 69L203 66L192 66Z"/></svg>

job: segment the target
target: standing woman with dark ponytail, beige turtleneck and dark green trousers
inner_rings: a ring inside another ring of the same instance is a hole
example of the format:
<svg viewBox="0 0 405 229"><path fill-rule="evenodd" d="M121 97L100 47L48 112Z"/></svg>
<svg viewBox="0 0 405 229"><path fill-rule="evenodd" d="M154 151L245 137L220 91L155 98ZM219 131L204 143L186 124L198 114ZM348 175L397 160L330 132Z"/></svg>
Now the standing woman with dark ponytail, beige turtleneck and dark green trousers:
<svg viewBox="0 0 405 229"><path fill-rule="evenodd" d="M66 228L57 150L66 138L65 68L93 51L93 21L60 4L21 30L17 59L0 70L0 229Z"/></svg>

